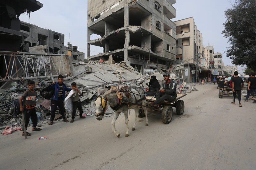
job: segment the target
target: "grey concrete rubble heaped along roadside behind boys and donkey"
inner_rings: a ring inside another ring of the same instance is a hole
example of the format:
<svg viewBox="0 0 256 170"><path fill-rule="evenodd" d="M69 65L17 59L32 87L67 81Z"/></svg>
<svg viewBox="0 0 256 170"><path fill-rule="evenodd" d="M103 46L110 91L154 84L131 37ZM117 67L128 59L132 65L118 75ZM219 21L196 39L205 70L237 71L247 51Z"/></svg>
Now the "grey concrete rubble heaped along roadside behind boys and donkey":
<svg viewBox="0 0 256 170"><path fill-rule="evenodd" d="M147 83L151 75L156 75L159 83L162 84L163 72L159 69L144 70L147 75L142 75L133 67L125 62L113 63L113 61L89 61L83 60L73 63L73 75L64 78L67 87L72 82L76 82L78 89L82 92L80 100L84 116L95 117L94 100L97 98L97 88L117 85L128 85L130 88L138 86L147 88ZM52 77L43 79L35 78L35 90L38 92L38 101L36 101L36 112L38 115L38 126L42 126L50 121L51 101L45 100L40 96L39 92L45 85L52 83ZM147 82L147 83L146 83ZM180 93L191 93L197 90L188 84L178 80L177 90ZM9 89L0 89L0 129L5 126L22 125L21 112L19 111L19 99L23 92L27 89L26 81L19 81L11 84ZM68 95L68 94L66 94ZM111 117L114 110L107 109L105 117ZM76 115L79 115L78 110ZM66 112L66 117L70 117L71 113ZM59 111L56 111L55 120L61 118Z"/></svg>

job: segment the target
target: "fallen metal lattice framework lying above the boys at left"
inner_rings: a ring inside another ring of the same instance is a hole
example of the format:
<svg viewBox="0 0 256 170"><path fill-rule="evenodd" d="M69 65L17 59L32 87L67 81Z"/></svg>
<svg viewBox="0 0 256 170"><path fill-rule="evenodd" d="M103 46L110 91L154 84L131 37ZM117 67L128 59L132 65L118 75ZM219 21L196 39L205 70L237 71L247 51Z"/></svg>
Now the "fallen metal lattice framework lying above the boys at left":
<svg viewBox="0 0 256 170"><path fill-rule="evenodd" d="M52 56L59 56L61 58L58 61L53 61ZM67 56L61 54L0 51L0 57L4 57L6 67L5 77L0 76L0 82L57 77L62 69L62 74L67 76L71 74L71 69L68 66L69 63L66 69L64 67L64 59ZM6 60L7 57L10 57L9 63ZM18 72L19 69L22 70L22 73ZM16 76L13 75L13 72Z"/></svg>

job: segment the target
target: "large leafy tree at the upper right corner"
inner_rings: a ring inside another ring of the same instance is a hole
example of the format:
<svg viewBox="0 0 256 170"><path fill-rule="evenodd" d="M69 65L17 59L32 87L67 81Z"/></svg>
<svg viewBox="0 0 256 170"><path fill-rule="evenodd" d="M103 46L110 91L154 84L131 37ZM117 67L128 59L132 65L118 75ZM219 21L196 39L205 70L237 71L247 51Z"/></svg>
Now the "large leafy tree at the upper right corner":
<svg viewBox="0 0 256 170"><path fill-rule="evenodd" d="M256 71L256 0L235 0L225 16L222 34L230 43L227 57L234 65Z"/></svg>

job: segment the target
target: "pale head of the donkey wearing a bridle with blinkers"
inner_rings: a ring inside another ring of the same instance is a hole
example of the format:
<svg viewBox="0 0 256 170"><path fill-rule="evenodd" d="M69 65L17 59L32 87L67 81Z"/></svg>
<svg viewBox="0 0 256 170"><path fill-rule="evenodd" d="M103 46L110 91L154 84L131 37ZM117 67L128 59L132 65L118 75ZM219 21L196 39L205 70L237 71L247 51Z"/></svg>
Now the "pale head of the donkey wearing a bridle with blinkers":
<svg viewBox="0 0 256 170"><path fill-rule="evenodd" d="M108 109L108 101L107 96L112 93L113 90L110 89L108 91L105 91L104 89L98 89L98 97L95 100L95 107L96 107L96 119L101 121L103 118L103 115L105 114L106 110Z"/></svg>

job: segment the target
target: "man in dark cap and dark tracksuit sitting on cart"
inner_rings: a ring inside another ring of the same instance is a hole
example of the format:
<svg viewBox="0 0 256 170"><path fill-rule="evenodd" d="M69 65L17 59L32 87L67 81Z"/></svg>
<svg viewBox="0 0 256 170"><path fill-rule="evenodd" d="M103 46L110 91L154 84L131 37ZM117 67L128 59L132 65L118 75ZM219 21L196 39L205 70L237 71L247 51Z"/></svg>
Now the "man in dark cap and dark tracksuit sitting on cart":
<svg viewBox="0 0 256 170"><path fill-rule="evenodd" d="M177 97L176 87L177 83L174 80L170 80L170 74L164 73L163 78L165 80L165 83L163 84L163 89L160 89L158 93L160 93L160 99L154 101L153 103L150 103L151 106L157 105L161 103L162 101L175 101ZM175 79L175 77L173 77Z"/></svg>

